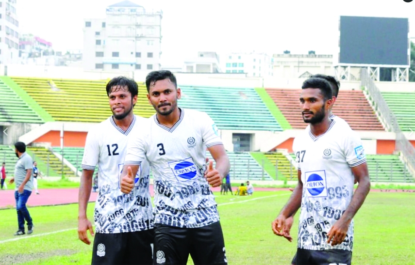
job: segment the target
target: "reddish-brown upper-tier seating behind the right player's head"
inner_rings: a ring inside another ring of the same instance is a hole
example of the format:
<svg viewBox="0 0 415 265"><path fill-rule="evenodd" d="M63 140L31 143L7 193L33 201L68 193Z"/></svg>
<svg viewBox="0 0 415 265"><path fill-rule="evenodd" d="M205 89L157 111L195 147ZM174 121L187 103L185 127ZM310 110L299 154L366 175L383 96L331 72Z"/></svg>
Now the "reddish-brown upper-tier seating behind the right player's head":
<svg viewBox="0 0 415 265"><path fill-rule="evenodd" d="M293 128L307 126L302 120L299 108L298 89L269 89L266 92L274 100ZM384 130L375 112L360 90L340 90L332 113L343 118L353 130Z"/></svg>

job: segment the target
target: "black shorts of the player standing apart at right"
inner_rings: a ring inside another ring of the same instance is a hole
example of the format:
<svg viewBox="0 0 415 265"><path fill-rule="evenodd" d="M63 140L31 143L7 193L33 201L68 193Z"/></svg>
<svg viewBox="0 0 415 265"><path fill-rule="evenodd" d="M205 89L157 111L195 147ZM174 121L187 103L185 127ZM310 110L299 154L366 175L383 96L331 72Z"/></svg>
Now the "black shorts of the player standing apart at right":
<svg viewBox="0 0 415 265"><path fill-rule="evenodd" d="M351 253L342 249L297 249L291 263L293 265L350 265Z"/></svg>

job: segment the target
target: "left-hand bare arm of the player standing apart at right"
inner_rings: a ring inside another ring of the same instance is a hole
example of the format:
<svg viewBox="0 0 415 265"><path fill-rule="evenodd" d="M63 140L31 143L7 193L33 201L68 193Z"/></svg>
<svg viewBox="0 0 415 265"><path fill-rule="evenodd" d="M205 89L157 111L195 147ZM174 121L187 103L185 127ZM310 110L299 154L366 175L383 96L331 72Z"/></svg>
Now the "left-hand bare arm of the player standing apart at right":
<svg viewBox="0 0 415 265"><path fill-rule="evenodd" d="M272 222L272 231L274 234L279 236L284 236L289 241L292 240L292 237L289 234L291 226L293 224L293 217L301 207L301 196L302 196L302 181L301 181L301 170L298 170L298 184L294 188L293 193L291 194L290 199L282 208L278 217ZM290 219L291 218L291 219ZM291 240L290 240L291 239Z"/></svg>

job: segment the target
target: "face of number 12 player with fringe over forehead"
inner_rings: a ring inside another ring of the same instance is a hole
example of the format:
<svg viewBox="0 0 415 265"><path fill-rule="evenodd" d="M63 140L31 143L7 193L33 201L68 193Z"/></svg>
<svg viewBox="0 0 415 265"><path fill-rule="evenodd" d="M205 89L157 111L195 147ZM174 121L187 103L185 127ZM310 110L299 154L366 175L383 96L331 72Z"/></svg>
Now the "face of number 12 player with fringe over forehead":
<svg viewBox="0 0 415 265"><path fill-rule="evenodd" d="M127 86L113 86L109 94L109 101L114 118L122 120L133 110L137 96L132 97Z"/></svg>

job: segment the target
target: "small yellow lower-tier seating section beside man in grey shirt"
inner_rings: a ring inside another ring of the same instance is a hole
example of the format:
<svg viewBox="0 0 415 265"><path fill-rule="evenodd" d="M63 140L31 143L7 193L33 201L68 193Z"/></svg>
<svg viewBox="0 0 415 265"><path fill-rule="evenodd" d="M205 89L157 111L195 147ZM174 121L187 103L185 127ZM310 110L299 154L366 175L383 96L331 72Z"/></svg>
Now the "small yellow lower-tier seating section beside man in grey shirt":
<svg viewBox="0 0 415 265"><path fill-rule="evenodd" d="M49 165L51 171L55 172L58 176L62 175L62 161L53 155L52 152L44 147L29 147L28 149L33 154L33 160L41 160L44 164ZM66 177L75 176L75 172L65 164L63 174ZM50 172L49 175L51 175Z"/></svg>

